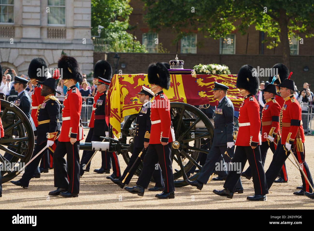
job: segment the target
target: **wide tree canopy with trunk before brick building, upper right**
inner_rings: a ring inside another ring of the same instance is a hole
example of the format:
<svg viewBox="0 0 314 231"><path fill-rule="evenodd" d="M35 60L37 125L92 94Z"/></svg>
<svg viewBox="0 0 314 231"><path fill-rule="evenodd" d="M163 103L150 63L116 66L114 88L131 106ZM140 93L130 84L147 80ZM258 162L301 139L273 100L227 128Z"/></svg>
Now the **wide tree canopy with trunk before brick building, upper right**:
<svg viewBox="0 0 314 231"><path fill-rule="evenodd" d="M314 0L142 0L144 16L151 30L173 28L177 40L198 30L214 39L234 30L245 34L250 26L267 33L263 42L281 42L283 63L290 67L289 37L304 33L314 35ZM299 38L300 39L300 38ZM299 42L299 41L298 41Z"/></svg>

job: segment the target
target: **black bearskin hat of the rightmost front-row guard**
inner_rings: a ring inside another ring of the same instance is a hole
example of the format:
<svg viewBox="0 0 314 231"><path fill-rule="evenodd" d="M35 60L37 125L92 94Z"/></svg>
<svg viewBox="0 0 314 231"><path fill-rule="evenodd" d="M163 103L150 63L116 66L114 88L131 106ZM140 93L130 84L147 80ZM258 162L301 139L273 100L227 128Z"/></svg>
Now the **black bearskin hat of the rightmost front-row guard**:
<svg viewBox="0 0 314 231"><path fill-rule="evenodd" d="M240 68L236 79L237 88L245 89L256 95L259 88L259 79L256 69L253 70L251 65L244 65Z"/></svg>

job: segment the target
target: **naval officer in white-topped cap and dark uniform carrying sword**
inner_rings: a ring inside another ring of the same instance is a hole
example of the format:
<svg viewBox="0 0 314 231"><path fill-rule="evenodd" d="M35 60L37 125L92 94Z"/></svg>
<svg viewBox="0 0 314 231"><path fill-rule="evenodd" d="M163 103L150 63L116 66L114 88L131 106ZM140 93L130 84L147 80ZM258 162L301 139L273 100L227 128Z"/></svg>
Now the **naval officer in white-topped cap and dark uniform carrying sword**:
<svg viewBox="0 0 314 231"><path fill-rule="evenodd" d="M141 107L141 110L138 113L137 118L136 118L136 131L135 131L136 134L134 135L134 140L133 140L134 148L133 148L132 156L130 157L130 161L127 165L127 168L124 170L122 176L119 179L110 178L113 183L119 185L120 188L122 188L122 189L123 189L125 184L130 183L130 180L132 179L136 169L138 168L138 166L141 163L141 160L138 159L138 161L136 162L134 167L131 169L131 167L133 166L133 163L137 159L139 153L145 147L145 150L143 151L143 153L140 157L143 161L145 154L146 154L146 151L147 151L147 147L149 145L150 127L152 125L150 122L151 103L149 100L154 97L154 92L143 86L141 91L138 92L138 94L140 95L139 101L141 103L143 103L143 106ZM128 174L126 180L124 181L124 183L122 183L122 181L126 177L127 173L129 173L129 174ZM156 184L153 188L148 189L149 191L163 191L164 190L165 184L164 184L164 181L163 181L161 176L162 176L161 175L161 168L158 165L158 168L155 169L155 171L153 173L153 178L154 178L154 181L156 182Z"/></svg>

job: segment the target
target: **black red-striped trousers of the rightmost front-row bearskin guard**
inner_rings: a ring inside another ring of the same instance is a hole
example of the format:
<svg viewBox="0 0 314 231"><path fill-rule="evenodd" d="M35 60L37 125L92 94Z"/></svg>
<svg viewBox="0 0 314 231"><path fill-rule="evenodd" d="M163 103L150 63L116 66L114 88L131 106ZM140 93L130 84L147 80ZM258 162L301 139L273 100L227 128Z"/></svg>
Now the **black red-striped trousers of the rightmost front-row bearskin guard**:
<svg viewBox="0 0 314 231"><path fill-rule="evenodd" d="M224 188L229 189L231 192L235 191L246 161L249 161L252 168L255 195L268 194L268 187L266 184L266 177L259 145L255 149L252 149L251 146L236 146L232 162L236 163L236 166L241 169L233 169L233 171L229 172Z"/></svg>

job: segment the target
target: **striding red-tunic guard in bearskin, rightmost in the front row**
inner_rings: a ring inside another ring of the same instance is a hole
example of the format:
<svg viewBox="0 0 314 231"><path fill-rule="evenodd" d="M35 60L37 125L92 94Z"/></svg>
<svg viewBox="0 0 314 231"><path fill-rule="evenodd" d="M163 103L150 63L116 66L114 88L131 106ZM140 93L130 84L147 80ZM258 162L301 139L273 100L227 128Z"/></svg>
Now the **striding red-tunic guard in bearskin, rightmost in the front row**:
<svg viewBox="0 0 314 231"><path fill-rule="evenodd" d="M227 176L223 190L214 190L219 196L232 198L236 190L236 184L241 176L241 172L249 161L252 168L254 196L248 196L250 201L266 201L268 187L266 184L265 172L262 163L260 144L260 127L261 120L259 117L259 105L254 97L256 95L259 81L257 72L252 70L250 65L241 67L236 85L240 89L244 101L241 104L239 112L239 131L236 138L236 150L232 162L241 169L231 169Z"/></svg>

